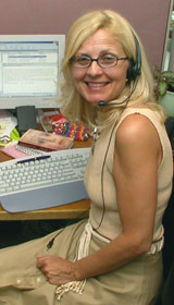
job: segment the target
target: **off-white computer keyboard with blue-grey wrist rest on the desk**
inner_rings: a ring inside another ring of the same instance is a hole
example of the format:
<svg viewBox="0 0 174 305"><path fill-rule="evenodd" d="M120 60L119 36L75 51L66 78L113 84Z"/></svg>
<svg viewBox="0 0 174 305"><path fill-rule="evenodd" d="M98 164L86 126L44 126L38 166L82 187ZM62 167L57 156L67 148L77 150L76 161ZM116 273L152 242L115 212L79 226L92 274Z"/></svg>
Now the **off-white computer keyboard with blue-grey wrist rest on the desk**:
<svg viewBox="0 0 174 305"><path fill-rule="evenodd" d="M84 173L89 154L90 148L76 148L1 162L2 208L23 212L88 198Z"/></svg>

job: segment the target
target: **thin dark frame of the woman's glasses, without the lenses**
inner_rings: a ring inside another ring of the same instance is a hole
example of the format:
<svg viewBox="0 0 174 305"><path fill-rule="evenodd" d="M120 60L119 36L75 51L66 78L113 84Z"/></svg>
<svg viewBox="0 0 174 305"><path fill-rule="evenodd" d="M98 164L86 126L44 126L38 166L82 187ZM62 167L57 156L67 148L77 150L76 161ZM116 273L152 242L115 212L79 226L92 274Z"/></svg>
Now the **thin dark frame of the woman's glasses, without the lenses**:
<svg viewBox="0 0 174 305"><path fill-rule="evenodd" d="M120 57L120 58L119 58L119 57L116 57L116 56L112 56L113 58L115 58L116 62L115 62L114 64L112 64L111 66L103 66L103 65L99 62L99 60L102 58L102 56L100 56L100 57L98 57L98 58L90 58L90 57L87 57L87 56L83 56L83 57L89 59L89 64L86 65L86 66L78 66L78 65L74 64L74 63L75 63L75 58L80 58L80 56L75 56L75 57L71 58L71 59L70 59L70 62L72 63L73 66L75 66L75 68L77 68L77 69L88 69L88 68L92 64L92 62L96 61L97 64L98 64L100 68L102 68L102 69L110 69L110 68L114 68L114 66L117 64L117 61L119 61L119 60L129 60L128 57Z"/></svg>

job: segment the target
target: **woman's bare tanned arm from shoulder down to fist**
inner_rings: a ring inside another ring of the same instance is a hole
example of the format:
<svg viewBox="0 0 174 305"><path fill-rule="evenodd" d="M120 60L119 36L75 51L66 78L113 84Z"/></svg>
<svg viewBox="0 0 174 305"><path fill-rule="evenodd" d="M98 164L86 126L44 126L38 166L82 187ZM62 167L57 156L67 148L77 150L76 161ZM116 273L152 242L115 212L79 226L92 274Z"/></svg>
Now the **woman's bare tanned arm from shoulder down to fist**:
<svg viewBox="0 0 174 305"><path fill-rule="evenodd" d="M149 120L138 114L126 118L116 132L113 163L123 232L92 255L74 264L64 260L65 269L69 269L67 281L115 270L150 249L157 205L157 171L161 158L160 141ZM41 266L38 266L47 274L51 265L49 259L41 258ZM60 269L60 258L54 259L58 259L55 265ZM58 273L57 283L62 283Z"/></svg>

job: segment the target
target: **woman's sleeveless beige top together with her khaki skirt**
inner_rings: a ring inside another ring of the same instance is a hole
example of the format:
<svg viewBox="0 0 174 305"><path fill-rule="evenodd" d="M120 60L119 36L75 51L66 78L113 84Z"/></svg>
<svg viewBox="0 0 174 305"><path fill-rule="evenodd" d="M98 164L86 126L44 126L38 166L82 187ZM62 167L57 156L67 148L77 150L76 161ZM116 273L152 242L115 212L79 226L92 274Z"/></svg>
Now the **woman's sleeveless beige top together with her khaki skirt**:
<svg viewBox="0 0 174 305"><path fill-rule="evenodd" d="M119 124L132 113L140 113L151 121L159 134L163 151L163 159L158 172L158 205L153 232L153 241L156 242L163 234L162 216L172 190L172 149L158 114L149 109L127 108ZM85 185L91 199L89 221L94 228L99 227L97 230L99 234L109 240L114 239L122 231L112 179L114 141L119 124L102 132L95 144L95 150L94 154L91 152L85 174ZM102 171L103 181L101 183ZM0 305L153 304L162 278L161 252L142 255L113 272L90 278L86 281L82 294L70 290L58 301L57 286L49 284L40 270L36 268L36 258L44 255L59 255L73 261L86 223L87 220L83 220L42 239L1 249ZM53 245L48 248L52 239L54 239ZM104 244L104 241L91 235L89 253L98 251Z"/></svg>

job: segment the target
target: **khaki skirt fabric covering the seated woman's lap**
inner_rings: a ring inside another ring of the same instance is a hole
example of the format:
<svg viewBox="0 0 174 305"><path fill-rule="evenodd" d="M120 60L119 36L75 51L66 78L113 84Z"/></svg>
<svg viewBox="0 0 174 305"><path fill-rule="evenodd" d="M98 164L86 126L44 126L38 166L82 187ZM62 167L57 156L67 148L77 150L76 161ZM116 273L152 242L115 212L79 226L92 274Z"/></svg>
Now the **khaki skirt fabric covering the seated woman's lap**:
<svg viewBox="0 0 174 305"><path fill-rule="evenodd" d="M44 255L60 255L73 260L85 223L86 221L82 221L45 237L1 249L0 304L150 304L158 293L161 281L161 254L145 255L119 270L91 278L87 280L83 294L69 292L60 302L57 301L55 285L49 284L40 270L36 268L36 258ZM54 239L53 245L48 249L47 246L52 239ZM103 246L101 242L92 239L90 253L98 251L101 246Z"/></svg>

